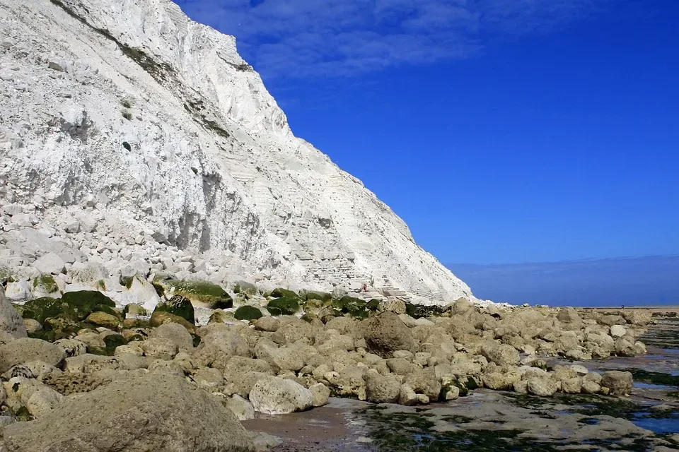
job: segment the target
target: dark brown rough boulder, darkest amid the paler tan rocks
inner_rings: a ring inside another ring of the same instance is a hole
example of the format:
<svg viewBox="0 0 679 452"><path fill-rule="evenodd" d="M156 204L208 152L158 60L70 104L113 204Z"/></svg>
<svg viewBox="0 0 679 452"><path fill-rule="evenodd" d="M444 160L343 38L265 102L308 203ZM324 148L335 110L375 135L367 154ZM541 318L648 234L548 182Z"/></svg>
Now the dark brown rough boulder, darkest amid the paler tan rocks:
<svg viewBox="0 0 679 452"><path fill-rule="evenodd" d="M416 351L410 329L397 314L383 312L364 323L364 337L369 352L388 358L397 350Z"/></svg>

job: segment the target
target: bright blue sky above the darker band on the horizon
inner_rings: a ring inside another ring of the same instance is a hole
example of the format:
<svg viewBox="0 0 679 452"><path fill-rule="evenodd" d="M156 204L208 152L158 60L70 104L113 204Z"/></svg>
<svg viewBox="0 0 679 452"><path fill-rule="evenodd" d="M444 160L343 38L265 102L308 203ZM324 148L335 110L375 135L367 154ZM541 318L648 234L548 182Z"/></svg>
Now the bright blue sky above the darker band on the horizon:
<svg viewBox="0 0 679 452"><path fill-rule="evenodd" d="M679 2L178 4L443 262L679 254Z"/></svg>

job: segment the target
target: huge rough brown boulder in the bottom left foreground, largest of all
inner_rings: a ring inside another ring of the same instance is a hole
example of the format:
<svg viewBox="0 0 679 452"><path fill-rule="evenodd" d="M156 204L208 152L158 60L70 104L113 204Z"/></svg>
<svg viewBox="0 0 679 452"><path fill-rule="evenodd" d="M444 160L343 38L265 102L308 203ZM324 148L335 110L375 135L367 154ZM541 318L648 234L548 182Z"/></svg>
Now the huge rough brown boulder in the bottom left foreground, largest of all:
<svg viewBox="0 0 679 452"><path fill-rule="evenodd" d="M183 377L153 371L61 403L4 429L7 452L250 452L231 410Z"/></svg>

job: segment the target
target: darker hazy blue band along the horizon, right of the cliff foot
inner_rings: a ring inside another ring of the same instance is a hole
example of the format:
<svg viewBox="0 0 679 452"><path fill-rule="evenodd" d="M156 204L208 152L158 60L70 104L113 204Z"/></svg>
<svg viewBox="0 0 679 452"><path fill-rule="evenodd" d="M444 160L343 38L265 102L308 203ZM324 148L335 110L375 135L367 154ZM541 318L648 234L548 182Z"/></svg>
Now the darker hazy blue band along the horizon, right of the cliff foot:
<svg viewBox="0 0 679 452"><path fill-rule="evenodd" d="M511 304L679 305L679 256L448 265L477 298Z"/></svg>

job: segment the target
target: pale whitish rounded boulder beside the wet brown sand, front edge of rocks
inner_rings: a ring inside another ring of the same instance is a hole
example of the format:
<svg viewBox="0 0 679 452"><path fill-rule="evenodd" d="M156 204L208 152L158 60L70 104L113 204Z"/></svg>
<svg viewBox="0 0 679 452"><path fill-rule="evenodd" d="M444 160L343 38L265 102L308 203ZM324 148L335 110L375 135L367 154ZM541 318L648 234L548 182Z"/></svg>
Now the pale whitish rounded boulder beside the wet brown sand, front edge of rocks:
<svg viewBox="0 0 679 452"><path fill-rule="evenodd" d="M284 415L313 407L313 393L301 384L277 376L265 376L250 391L257 412Z"/></svg>

